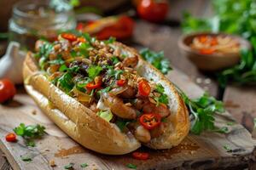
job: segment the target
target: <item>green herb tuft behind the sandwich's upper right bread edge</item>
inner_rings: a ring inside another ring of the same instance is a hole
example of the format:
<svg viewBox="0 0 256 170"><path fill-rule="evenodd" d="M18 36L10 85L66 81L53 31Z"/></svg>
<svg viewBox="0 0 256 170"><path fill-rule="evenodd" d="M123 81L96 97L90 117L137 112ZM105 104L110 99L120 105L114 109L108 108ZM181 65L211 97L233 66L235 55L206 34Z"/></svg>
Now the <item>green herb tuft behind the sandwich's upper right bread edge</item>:
<svg viewBox="0 0 256 170"><path fill-rule="evenodd" d="M140 51L143 59L146 59L151 65L160 70L163 74L167 74L171 71L170 61L165 58L164 52L155 53L150 51L148 48L144 48Z"/></svg>

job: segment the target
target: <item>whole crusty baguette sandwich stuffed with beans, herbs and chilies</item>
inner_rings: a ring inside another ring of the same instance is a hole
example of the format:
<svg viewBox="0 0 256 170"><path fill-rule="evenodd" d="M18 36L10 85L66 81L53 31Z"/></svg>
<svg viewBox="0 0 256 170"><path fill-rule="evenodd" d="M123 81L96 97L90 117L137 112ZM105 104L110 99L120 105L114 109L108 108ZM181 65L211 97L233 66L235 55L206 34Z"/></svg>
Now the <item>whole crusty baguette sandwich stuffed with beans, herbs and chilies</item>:
<svg viewBox="0 0 256 170"><path fill-rule="evenodd" d="M170 149L189 133L189 114L172 82L135 49L70 33L35 46L23 65L26 92L85 148L108 155L141 144Z"/></svg>

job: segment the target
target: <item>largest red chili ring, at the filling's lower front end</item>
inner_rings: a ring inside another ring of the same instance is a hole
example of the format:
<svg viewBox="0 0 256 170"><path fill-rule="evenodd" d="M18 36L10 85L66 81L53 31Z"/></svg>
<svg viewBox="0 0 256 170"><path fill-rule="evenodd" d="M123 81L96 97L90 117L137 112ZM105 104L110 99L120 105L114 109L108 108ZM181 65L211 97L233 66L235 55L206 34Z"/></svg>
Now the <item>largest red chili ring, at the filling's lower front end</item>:
<svg viewBox="0 0 256 170"><path fill-rule="evenodd" d="M157 113L146 113L140 116L140 123L148 130L152 130L160 125L161 116Z"/></svg>

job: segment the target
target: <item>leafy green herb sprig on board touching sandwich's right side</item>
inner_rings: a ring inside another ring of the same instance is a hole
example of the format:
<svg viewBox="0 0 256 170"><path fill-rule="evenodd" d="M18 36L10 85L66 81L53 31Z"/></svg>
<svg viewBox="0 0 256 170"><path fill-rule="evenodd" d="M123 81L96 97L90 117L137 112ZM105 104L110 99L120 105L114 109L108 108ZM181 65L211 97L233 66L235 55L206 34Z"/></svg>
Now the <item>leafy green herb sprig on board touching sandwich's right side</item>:
<svg viewBox="0 0 256 170"><path fill-rule="evenodd" d="M177 91L195 118L190 129L192 133L200 134L207 130L218 133L226 133L228 131L227 127L219 128L214 123L214 114L224 112L224 105L221 101L214 99L209 94L203 94L198 99L189 99L181 89L177 88Z"/></svg>

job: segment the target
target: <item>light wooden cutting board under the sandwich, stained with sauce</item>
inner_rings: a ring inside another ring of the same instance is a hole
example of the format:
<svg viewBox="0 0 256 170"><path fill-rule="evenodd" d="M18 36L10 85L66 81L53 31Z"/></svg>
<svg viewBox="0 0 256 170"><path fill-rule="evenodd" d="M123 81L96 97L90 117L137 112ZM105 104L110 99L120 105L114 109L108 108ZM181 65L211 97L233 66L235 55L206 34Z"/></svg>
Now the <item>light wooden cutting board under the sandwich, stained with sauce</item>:
<svg viewBox="0 0 256 170"><path fill-rule="evenodd" d="M190 97L203 94L201 88L189 80L189 77L179 71L171 71L167 76L175 82ZM227 122L234 122L228 112L216 116L219 126L228 126ZM46 127L47 135L38 139L37 146L26 147L24 141L8 143L4 137L12 129L24 122L39 123ZM67 137L38 109L33 100L21 88L19 94L9 105L0 105L0 149L7 156L14 169L49 170L63 169L70 162L74 169L83 169L80 164L87 163L84 169L128 169L126 165L132 163L137 169L226 169L247 167L255 161L256 141L241 125L235 123L228 126L230 133L203 133L200 136L189 134L182 144L171 150L149 150L148 161L134 160L130 154L125 156L105 156L87 150ZM224 149L230 147L231 151ZM108 147L108 145L103 146ZM32 156L32 161L22 161L20 156ZM55 161L55 167L49 166L49 161Z"/></svg>

